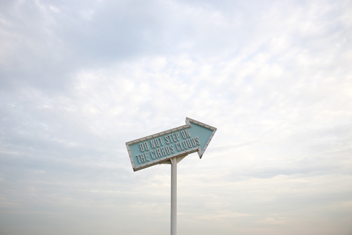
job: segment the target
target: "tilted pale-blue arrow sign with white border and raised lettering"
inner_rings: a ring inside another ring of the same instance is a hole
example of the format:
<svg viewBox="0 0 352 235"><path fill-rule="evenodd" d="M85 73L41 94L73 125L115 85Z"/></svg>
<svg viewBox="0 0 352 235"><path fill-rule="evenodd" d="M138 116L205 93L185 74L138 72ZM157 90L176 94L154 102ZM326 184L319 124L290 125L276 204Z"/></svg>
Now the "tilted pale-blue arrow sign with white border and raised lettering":
<svg viewBox="0 0 352 235"><path fill-rule="evenodd" d="M216 128L186 117L186 125L126 143L133 171L198 152L202 158Z"/></svg>

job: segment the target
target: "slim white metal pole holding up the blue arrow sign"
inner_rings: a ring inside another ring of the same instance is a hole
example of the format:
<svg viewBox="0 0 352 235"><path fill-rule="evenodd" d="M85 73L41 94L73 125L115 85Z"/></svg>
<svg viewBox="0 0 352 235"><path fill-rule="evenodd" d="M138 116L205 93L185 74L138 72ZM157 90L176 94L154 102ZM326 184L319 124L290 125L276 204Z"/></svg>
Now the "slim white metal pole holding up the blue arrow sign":
<svg viewBox="0 0 352 235"><path fill-rule="evenodd" d="M177 234L177 157L171 160L171 235Z"/></svg>

